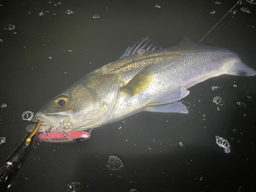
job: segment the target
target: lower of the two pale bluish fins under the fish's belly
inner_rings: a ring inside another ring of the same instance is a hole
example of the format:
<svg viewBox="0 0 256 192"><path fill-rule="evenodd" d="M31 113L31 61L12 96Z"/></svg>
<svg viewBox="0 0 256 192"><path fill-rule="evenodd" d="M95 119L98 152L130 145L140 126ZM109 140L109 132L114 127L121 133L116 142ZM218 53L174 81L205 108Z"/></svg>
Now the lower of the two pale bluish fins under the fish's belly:
<svg viewBox="0 0 256 192"><path fill-rule="evenodd" d="M186 106L181 101L169 104L147 106L144 111L161 113L188 113Z"/></svg>

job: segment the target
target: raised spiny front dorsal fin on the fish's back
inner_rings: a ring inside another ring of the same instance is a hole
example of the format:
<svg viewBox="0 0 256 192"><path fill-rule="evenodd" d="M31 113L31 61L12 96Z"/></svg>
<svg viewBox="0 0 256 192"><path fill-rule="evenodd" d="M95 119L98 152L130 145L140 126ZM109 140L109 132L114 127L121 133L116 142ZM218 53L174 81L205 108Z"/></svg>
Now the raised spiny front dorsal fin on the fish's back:
<svg viewBox="0 0 256 192"><path fill-rule="evenodd" d="M150 38L148 38L148 36L146 38L141 37L141 39L138 40L132 48L129 46L119 59L134 54L141 55L147 51L154 51L157 49L162 49L162 47L155 44Z"/></svg>

